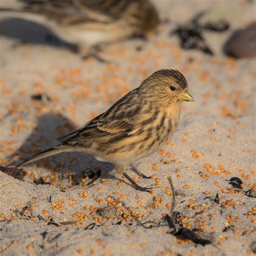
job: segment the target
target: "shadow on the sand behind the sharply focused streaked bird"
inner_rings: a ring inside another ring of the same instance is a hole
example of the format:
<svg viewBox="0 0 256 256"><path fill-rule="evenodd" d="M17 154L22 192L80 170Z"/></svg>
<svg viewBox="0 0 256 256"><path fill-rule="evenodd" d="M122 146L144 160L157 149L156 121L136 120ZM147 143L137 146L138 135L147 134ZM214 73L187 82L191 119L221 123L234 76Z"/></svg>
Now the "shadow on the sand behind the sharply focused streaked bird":
<svg viewBox="0 0 256 256"><path fill-rule="evenodd" d="M45 113L37 119L37 125L32 130L23 144L8 158L11 165L17 165L21 161L58 145L59 138L76 129L76 125L68 118L59 113ZM80 174L84 170L100 169L102 173L113 169L113 165L96 160L93 156L82 152L60 153L55 156L44 158L28 166L47 167L59 173L69 170L72 173ZM111 174L108 174L111 176Z"/></svg>

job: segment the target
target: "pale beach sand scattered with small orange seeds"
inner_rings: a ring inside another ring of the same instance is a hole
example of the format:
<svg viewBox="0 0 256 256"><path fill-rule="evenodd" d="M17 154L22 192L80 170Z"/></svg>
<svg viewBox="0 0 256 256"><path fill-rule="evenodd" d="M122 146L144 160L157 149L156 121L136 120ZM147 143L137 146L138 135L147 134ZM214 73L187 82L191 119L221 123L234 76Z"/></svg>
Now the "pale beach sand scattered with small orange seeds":
<svg viewBox="0 0 256 256"><path fill-rule="evenodd" d="M183 72L194 103L184 103L168 145L136 163L151 179L137 178L140 192L113 166L83 153L59 154L25 166L24 181L0 172L2 255L247 255L255 252L255 59L223 55L235 29L254 19L255 3L234 2L242 12L230 30L205 32L215 52L179 47L177 24L212 9L213 1L154 1L162 23L150 41L129 39L104 46L82 60L42 26L0 21L1 151L3 166L20 163L56 145L56 138L102 113L152 72ZM232 15L231 15L232 16ZM32 95L45 95L32 100ZM47 99L47 96L51 100ZM100 177L87 179L92 173ZM211 241L196 245L170 233L171 176L174 211L184 227ZM43 177L46 184L33 181ZM241 189L230 184L242 180ZM82 179L83 178L83 179ZM82 181L81 181L82 179ZM49 184L48 184L49 183ZM218 193L218 200L214 200ZM217 202L218 203L217 203ZM253 208L254 207L254 208ZM23 211L23 214L21 212ZM69 223L66 223L69 221ZM64 222L64 223L63 223ZM73 223L73 224L72 224Z"/></svg>

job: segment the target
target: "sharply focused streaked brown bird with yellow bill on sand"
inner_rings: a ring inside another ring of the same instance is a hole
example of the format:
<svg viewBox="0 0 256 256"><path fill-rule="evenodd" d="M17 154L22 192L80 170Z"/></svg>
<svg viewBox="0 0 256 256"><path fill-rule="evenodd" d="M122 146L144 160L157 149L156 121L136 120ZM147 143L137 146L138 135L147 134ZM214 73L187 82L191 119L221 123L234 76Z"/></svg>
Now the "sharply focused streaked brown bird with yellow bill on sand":
<svg viewBox="0 0 256 256"><path fill-rule="evenodd" d="M116 165L137 190L140 187L125 172L126 166L146 177L133 165L165 145L177 128L181 102L193 102L187 81L178 70L159 70L114 103L106 112L62 138L62 143L36 154L17 167L60 152L84 151L98 160Z"/></svg>

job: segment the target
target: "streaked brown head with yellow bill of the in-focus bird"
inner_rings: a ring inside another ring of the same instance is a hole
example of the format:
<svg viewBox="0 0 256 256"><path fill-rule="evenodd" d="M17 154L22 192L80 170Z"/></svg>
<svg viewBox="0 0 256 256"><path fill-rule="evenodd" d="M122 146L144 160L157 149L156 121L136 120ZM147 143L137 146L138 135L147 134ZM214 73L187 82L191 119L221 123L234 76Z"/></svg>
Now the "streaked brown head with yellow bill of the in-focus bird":
<svg viewBox="0 0 256 256"><path fill-rule="evenodd" d="M170 106L172 103L193 102L186 78L178 71L162 69L154 72L140 85L140 90L155 103Z"/></svg>

